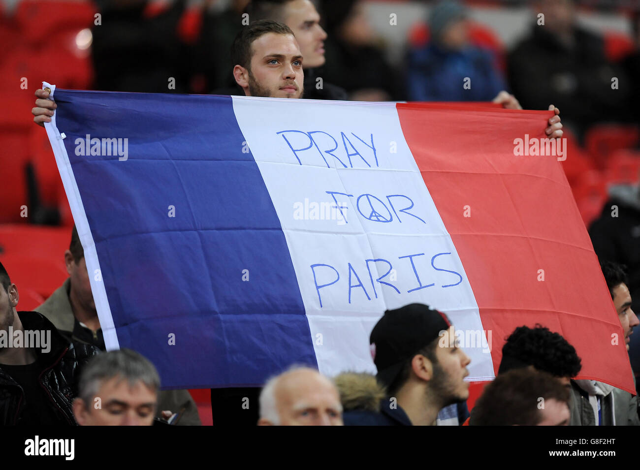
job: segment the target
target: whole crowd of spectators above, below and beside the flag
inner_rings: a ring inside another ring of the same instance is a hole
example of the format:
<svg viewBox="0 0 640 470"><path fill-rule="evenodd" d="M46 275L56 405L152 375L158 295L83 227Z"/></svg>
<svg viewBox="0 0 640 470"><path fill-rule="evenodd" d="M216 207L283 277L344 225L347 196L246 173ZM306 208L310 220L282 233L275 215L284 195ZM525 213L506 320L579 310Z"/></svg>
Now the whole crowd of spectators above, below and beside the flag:
<svg viewBox="0 0 640 470"><path fill-rule="evenodd" d="M602 37L577 23L572 0L536 1L545 24L532 16L531 33L509 52L506 72L492 50L472 42L470 12L452 0L431 6L430 38L410 47L406 70L388 63L362 1L316 8L309 0L237 0L222 12L203 8L199 34L187 37L180 36L182 1L153 15L143 0L98 4L102 26L93 27L92 60L100 90L554 104L579 139L602 119L636 120L628 103L636 100L629 83L637 52L618 63L608 59ZM274 48L283 52L278 70L256 59ZM619 88L612 88L613 77ZM42 125L57 104L44 90L36 97L32 112ZM555 114L547 134L561 137ZM633 309L640 298L639 194L633 182L612 187L611 203L589 230L627 350L640 324ZM611 217L611 206L620 217ZM3 425L200 424L188 391L161 391L150 361L130 350L104 352L75 228L61 255L69 277L33 312L17 309L18 286L0 264L0 331L52 331L46 352L0 347ZM637 396L577 379L575 349L544 325L522 325L504 338L497 379L469 412L470 359L449 318L422 304L380 314L369 338L376 375L328 378L291 364L262 388L212 390L214 425L640 425ZM255 414L241 411L246 396L258 397Z"/></svg>

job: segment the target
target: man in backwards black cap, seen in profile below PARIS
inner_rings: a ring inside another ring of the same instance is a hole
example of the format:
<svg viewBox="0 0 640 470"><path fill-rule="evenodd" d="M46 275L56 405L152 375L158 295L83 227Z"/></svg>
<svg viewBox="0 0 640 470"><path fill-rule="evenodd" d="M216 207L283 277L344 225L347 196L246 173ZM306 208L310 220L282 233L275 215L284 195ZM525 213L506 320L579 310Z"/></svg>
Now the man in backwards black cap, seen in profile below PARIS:
<svg viewBox="0 0 640 470"><path fill-rule="evenodd" d="M442 408L467 400L470 359L443 313L422 304L387 310L369 342L387 398L378 412L351 408L345 425L435 425Z"/></svg>

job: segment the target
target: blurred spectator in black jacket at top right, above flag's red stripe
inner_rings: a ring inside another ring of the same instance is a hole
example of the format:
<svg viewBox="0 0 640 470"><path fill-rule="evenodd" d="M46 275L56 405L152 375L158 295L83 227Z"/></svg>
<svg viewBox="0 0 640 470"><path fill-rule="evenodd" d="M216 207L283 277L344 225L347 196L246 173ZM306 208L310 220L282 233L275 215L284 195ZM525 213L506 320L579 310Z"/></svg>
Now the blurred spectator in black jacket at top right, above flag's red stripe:
<svg viewBox="0 0 640 470"><path fill-rule="evenodd" d="M612 88L623 71L605 56L602 35L583 27L574 0L537 0L529 35L509 53L509 82L525 109L553 103L580 138L602 119L620 120L628 89Z"/></svg>

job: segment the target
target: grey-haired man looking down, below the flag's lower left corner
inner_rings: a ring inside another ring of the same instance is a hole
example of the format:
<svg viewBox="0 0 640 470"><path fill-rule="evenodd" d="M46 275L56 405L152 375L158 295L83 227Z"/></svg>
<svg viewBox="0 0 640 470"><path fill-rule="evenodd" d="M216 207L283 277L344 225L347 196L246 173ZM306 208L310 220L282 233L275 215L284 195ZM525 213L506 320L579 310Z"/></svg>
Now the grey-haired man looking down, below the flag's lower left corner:
<svg viewBox="0 0 640 470"><path fill-rule="evenodd" d="M160 377L146 357L131 349L105 352L86 364L74 417L81 426L150 426Z"/></svg>

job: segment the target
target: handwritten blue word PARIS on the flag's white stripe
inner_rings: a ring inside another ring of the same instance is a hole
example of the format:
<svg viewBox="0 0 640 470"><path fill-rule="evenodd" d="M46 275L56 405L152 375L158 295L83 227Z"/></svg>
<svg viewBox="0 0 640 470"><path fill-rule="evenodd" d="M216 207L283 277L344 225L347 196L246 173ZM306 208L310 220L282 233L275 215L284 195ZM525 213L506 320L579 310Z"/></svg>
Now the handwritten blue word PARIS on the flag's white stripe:
<svg viewBox="0 0 640 470"><path fill-rule="evenodd" d="M460 284L462 282L462 276L460 276L460 274L458 272L453 271L453 270L449 270L449 269L443 269L441 267L437 267L436 266L436 259L439 256L447 256L447 255L450 256L451 253L437 253L436 255L433 255L431 257L431 267L433 267L433 269L435 269L436 271L449 272L451 275L456 276L456 278L458 278L458 279L451 279L448 284L441 284L440 288L447 288L447 287L457 286L458 284ZM424 255L424 253L415 253L414 255L398 256L399 260L404 260L404 259L408 258L408 261L411 264L411 267L413 269L413 276L415 276L415 280L417 282L417 286L416 287L406 291L407 294L410 294L411 292L415 292L416 290L426 289L426 288L433 287L433 286L436 285L435 283L431 283L431 284L428 284L428 285L422 284L420 276L419 276L417 270L415 269L415 263L413 262L413 258L415 258L417 256L425 256L425 255ZM438 261L438 263L440 263L440 262L442 262L442 260ZM378 291L376 290L376 283L379 284L379 285L388 286L388 287L392 288L393 290L395 290L396 294L400 294L400 290L399 290L399 288L397 288L397 286L393 285L390 282L383 281L383 279L387 278L387 276L393 270L393 266L392 266L390 261L385 260L384 258L375 258L375 259L371 259L371 260L364 260L364 263L365 263L365 266L367 267L367 274L369 274L369 280L371 281L371 293L374 295L374 297L376 299L378 299ZM377 279L374 280L374 276L373 276L373 274L371 272L371 267L372 267L372 265L375 266L375 263L385 263L385 265L387 265L387 267L388 267L388 270L387 270L387 272L385 272L385 274L380 276L380 278L377 278ZM406 263L406 262L403 262L403 263ZM364 283L362 282L362 279L365 279L365 281L366 281L367 278L364 277L364 276L362 276L362 277L359 276L358 272L356 272L356 270L354 269L354 267L353 267L353 265L351 263L348 262L346 267L347 267L346 270L348 272L348 274L346 274L346 276L348 278L348 285L344 286L343 288L346 288L346 290L348 290L349 304L351 303L351 293L356 288L359 289L359 290L362 290L362 294L364 294L364 296L367 298L367 301L371 301L371 295L369 295L369 291L367 291L367 288L365 287ZM318 301L320 302L320 308L322 308L323 304L322 304L322 296L320 294L320 290L321 289L326 289L329 286L332 286L335 283L337 283L338 281L340 281L340 272L337 269L335 269L335 267L333 267L332 265L323 264L323 263L312 264L310 266L310 268L311 268L311 271L312 271L312 273L314 275L314 284L316 285L316 292L317 292L317 295L318 295ZM343 271L343 273L342 273L342 279L343 280L344 280L344 277L345 277L345 274L344 274L344 271ZM438 283L438 284L440 284L440 283ZM362 295L361 295L361 297L362 297Z"/></svg>

